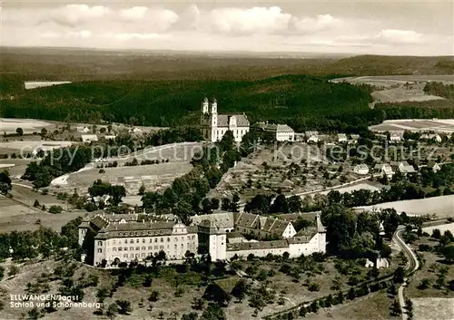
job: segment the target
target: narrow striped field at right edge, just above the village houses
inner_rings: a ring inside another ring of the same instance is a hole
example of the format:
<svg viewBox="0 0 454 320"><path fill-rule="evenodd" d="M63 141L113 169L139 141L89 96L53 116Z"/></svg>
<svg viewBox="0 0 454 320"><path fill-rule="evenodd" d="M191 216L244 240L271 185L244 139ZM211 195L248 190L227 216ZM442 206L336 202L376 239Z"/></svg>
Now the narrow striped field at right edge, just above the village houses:
<svg viewBox="0 0 454 320"><path fill-rule="evenodd" d="M454 119L402 119L387 120L370 126L371 131L436 131L454 132Z"/></svg>

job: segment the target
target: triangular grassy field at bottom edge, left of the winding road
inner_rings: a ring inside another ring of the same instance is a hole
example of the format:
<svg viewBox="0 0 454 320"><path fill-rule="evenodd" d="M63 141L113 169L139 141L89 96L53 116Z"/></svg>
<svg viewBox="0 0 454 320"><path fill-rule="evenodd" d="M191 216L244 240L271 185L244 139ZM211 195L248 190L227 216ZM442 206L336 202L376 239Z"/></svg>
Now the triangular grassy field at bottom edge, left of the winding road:
<svg viewBox="0 0 454 320"><path fill-rule="evenodd" d="M400 316L390 315L392 299L380 291L363 296L343 305L321 309L317 314L306 315L308 320L399 320Z"/></svg>

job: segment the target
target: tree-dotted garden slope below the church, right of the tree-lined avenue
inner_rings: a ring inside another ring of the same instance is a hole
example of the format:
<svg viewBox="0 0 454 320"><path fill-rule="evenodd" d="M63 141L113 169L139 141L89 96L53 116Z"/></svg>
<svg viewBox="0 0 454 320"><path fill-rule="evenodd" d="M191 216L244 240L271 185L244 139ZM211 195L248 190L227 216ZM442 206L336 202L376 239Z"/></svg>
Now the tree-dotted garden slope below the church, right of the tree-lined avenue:
<svg viewBox="0 0 454 320"><path fill-rule="evenodd" d="M340 172L340 167L323 160L321 150L307 144L287 144L280 151L262 148L227 171L210 197L230 197L239 192L244 200L278 190L300 194L357 179L350 170Z"/></svg>

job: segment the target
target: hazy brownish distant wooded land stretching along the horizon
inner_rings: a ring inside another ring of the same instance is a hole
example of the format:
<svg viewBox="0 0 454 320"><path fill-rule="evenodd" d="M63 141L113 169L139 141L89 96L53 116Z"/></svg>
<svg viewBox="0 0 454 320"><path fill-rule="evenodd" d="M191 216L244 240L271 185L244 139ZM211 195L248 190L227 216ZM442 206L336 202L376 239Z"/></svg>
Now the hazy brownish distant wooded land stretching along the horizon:
<svg viewBox="0 0 454 320"><path fill-rule="evenodd" d="M322 53L125 52L2 48L0 75L25 80L255 80L282 74L454 74L453 57Z"/></svg>

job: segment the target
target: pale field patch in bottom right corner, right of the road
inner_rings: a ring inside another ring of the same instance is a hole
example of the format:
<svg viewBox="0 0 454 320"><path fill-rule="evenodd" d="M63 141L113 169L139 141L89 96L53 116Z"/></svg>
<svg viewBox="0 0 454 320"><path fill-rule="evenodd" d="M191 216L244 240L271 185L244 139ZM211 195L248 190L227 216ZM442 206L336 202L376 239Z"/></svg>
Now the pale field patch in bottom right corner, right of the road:
<svg viewBox="0 0 454 320"><path fill-rule="evenodd" d="M454 319L454 298L416 298L413 301L414 320Z"/></svg>

